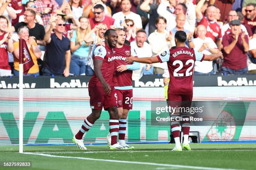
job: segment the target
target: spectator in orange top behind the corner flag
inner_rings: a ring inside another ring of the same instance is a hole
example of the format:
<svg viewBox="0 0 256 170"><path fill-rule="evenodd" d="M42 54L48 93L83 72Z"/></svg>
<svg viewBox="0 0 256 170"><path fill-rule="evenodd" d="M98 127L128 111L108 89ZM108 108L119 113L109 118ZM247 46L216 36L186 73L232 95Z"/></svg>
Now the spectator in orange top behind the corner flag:
<svg viewBox="0 0 256 170"><path fill-rule="evenodd" d="M20 27L18 30L18 36L21 39L26 41L28 46L28 50L34 62L34 65L29 69L28 74L24 76L38 76L39 75L39 67L37 64L37 59L39 59L42 55L41 50L39 49L38 45L36 44L36 40L33 37L29 37L28 28L23 26ZM19 76L19 41L14 42L14 70L13 73L15 76Z"/></svg>

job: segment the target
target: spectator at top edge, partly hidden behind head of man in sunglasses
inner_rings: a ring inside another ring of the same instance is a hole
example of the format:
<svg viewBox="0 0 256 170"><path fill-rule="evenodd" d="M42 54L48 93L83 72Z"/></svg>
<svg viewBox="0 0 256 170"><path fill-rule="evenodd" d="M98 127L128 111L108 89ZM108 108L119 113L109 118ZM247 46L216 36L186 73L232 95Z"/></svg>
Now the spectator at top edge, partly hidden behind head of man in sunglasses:
<svg viewBox="0 0 256 170"><path fill-rule="evenodd" d="M107 0L92 0L90 5L87 5L86 7L84 7L84 12L82 15L87 18L93 18L94 17L94 13L93 13L94 7L95 7L95 5L100 4L104 7L105 15L107 15L108 17L112 17L111 8L105 5L106 2L107 2Z"/></svg>

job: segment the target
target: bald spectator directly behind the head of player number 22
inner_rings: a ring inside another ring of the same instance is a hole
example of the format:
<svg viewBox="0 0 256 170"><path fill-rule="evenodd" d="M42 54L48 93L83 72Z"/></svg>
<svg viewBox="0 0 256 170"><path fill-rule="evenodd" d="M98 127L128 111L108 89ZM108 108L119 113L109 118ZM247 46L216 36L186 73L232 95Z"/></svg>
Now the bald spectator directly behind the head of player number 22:
<svg viewBox="0 0 256 170"><path fill-rule="evenodd" d="M183 14L183 13L179 13L177 16L176 16L176 19L175 19L175 21L176 21L176 27L174 28L174 29L172 29L172 36L173 36L173 38L172 38L172 46L174 46L174 44L175 44L175 41L174 41L174 35L175 35L175 33L177 32L177 31L184 31L184 32L186 32L186 34L187 34L187 40L186 40L186 47L188 47L188 48L194 48L195 47L195 45L194 45L194 43L193 43L193 33L192 32L190 32L189 30L186 30L186 29L184 29L184 23L185 23L185 20L186 20L186 16Z"/></svg>

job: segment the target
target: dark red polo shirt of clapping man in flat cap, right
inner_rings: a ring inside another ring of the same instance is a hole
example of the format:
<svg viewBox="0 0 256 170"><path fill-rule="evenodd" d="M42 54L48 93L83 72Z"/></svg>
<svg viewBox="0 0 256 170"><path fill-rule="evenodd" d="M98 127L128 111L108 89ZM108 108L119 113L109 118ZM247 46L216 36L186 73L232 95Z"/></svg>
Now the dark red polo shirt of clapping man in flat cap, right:
<svg viewBox="0 0 256 170"><path fill-rule="evenodd" d="M238 36L238 41L236 42L235 47L230 51L229 54L223 53L223 64L222 67L227 67L233 70L240 70L247 67L247 55L243 50L243 41L241 38L242 32ZM223 36L222 44L223 47L226 47L231 44L234 40L231 32L226 32ZM245 40L249 43L248 36L245 35Z"/></svg>

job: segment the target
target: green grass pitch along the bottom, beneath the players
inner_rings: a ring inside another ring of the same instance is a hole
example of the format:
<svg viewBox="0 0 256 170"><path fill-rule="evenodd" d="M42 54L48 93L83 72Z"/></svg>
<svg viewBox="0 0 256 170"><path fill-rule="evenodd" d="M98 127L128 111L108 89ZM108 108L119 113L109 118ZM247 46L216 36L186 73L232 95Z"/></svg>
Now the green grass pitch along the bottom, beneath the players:
<svg viewBox="0 0 256 170"><path fill-rule="evenodd" d="M32 163L31 168L0 170L255 170L256 143L192 143L192 151L171 152L174 144L134 144L134 150L108 150L107 145L0 147L0 162Z"/></svg>

